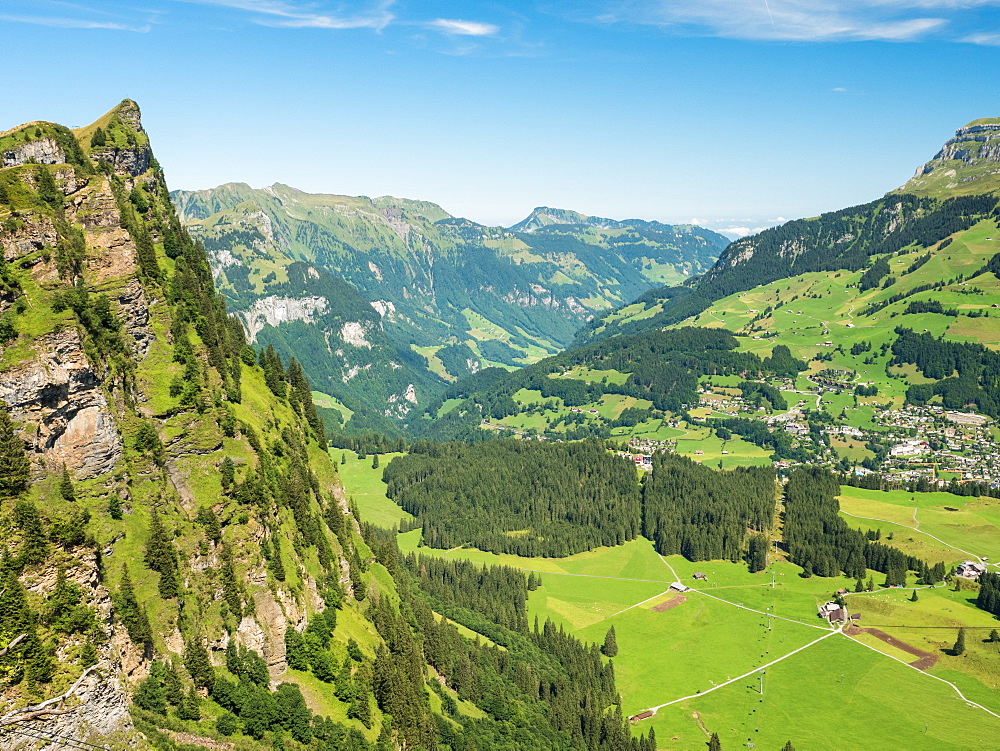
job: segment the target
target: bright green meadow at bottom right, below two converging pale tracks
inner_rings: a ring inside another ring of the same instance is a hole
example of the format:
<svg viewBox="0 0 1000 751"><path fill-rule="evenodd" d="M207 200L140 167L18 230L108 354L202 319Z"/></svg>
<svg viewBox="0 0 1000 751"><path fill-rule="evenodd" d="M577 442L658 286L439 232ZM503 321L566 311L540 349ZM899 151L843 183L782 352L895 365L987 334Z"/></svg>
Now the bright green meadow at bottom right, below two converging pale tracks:
<svg viewBox="0 0 1000 751"><path fill-rule="evenodd" d="M1000 719L951 687L843 635L772 665L763 678L763 694L753 675L665 707L637 730L651 724L660 748L679 751L702 751L706 730L725 749L777 750L790 740L809 751L985 749L1000 732Z"/></svg>

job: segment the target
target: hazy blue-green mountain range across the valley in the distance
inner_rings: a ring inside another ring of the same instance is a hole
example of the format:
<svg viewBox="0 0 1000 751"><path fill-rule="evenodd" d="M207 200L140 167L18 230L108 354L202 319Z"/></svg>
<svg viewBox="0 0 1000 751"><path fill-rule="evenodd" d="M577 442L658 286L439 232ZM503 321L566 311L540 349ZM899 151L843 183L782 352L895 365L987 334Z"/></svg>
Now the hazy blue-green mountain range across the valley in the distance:
<svg viewBox="0 0 1000 751"><path fill-rule="evenodd" d="M487 364L555 352L595 312L702 271L725 244L699 228L552 209L507 230L423 201L280 184L173 199L252 338L294 354L355 412L390 418Z"/></svg>

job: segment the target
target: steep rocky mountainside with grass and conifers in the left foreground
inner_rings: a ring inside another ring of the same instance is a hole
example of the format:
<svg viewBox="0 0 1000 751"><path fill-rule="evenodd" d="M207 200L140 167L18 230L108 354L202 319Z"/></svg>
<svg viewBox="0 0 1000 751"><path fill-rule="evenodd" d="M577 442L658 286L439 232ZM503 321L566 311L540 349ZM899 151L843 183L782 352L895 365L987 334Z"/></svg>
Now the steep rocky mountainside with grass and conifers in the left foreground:
<svg viewBox="0 0 1000 751"><path fill-rule="evenodd" d="M596 649L528 627L527 577L436 569L459 592L361 527L134 102L0 155L4 748L651 747Z"/></svg>

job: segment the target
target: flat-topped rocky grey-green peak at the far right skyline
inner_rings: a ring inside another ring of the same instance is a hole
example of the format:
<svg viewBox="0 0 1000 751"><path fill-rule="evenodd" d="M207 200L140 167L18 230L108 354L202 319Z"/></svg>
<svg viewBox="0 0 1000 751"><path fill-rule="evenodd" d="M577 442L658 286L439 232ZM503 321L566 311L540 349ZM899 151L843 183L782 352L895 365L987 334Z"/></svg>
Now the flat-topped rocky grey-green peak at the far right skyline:
<svg viewBox="0 0 1000 751"><path fill-rule="evenodd" d="M980 118L959 128L900 190L949 195L1000 190L1000 117Z"/></svg>

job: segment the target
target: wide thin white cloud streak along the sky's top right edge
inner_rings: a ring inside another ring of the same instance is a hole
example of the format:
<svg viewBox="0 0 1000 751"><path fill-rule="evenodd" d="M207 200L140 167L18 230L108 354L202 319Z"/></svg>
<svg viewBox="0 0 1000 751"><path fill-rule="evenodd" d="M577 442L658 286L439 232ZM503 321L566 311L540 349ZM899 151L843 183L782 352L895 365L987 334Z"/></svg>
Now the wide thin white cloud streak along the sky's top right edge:
<svg viewBox="0 0 1000 751"><path fill-rule="evenodd" d="M730 39L915 41L945 30L962 14L997 7L1000 0L594 0L577 20L642 24L677 33ZM997 35L981 34L973 41Z"/></svg>

